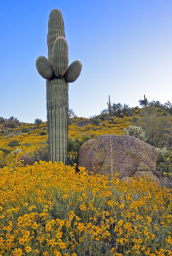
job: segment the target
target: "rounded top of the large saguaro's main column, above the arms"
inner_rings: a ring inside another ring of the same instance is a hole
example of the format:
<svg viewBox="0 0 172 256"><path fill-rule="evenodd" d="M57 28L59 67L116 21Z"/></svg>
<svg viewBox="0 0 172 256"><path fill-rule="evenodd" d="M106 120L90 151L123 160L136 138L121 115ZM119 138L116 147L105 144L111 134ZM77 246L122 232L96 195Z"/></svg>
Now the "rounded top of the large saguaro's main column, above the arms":
<svg viewBox="0 0 172 256"><path fill-rule="evenodd" d="M51 61L52 48L54 45L54 41L59 36L63 36L65 38L63 16L58 9L54 9L52 10L49 16L49 31L48 31L48 38L47 38L50 61Z"/></svg>

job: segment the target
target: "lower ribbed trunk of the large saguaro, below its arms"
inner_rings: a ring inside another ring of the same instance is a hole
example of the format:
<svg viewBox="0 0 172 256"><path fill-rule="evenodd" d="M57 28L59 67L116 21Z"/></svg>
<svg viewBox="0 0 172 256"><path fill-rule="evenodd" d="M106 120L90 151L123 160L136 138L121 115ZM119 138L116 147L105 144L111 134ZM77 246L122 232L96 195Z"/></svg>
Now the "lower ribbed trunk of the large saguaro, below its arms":
<svg viewBox="0 0 172 256"><path fill-rule="evenodd" d="M68 83L65 78L47 80L47 122L51 161L66 163Z"/></svg>

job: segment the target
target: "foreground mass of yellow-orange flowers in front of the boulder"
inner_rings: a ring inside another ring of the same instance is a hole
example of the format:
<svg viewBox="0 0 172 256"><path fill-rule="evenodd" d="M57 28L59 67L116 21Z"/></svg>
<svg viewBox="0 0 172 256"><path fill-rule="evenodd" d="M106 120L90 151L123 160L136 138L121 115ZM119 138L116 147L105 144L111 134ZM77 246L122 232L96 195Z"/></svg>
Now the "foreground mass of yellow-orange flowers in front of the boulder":
<svg viewBox="0 0 172 256"><path fill-rule="evenodd" d="M4 168L1 255L171 255L171 191L62 163Z"/></svg>

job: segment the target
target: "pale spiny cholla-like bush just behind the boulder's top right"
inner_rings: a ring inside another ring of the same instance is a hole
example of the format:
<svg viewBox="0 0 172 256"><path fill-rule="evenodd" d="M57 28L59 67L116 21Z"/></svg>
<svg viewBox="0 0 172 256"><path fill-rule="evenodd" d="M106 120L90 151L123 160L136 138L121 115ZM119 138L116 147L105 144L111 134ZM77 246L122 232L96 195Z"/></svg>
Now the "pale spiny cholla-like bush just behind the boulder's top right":
<svg viewBox="0 0 172 256"><path fill-rule="evenodd" d="M140 140L143 140L146 142L147 138L145 135L145 132L141 127L138 127L136 125L130 125L128 129L123 129L125 135L134 136Z"/></svg>

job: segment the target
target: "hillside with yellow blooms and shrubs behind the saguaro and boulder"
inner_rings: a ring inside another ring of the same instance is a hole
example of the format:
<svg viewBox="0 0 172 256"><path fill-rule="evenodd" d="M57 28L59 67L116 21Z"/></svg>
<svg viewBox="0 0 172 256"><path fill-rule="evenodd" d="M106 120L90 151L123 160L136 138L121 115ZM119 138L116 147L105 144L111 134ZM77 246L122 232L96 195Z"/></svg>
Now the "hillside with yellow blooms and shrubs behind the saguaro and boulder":
<svg viewBox="0 0 172 256"><path fill-rule="evenodd" d="M68 119L68 164L77 163L79 147L86 140L102 134L124 134L123 129L134 124L143 128L148 143L154 147L171 148L172 115L166 108L116 108L109 115L107 110L92 118L72 116ZM115 108L114 108L115 107ZM125 107L125 106L124 106ZM39 119L38 119L39 120ZM17 161L20 156L33 161L49 161L47 122L21 123L17 118L2 120L0 124L0 166Z"/></svg>

